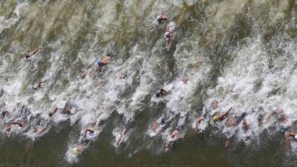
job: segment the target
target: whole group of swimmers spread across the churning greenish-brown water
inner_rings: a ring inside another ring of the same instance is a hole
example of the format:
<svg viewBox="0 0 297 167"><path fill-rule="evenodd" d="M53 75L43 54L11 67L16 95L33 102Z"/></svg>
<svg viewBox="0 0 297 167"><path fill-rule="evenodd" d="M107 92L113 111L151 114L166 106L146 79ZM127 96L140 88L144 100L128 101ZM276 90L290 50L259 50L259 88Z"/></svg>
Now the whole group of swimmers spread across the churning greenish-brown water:
<svg viewBox="0 0 297 167"><path fill-rule="evenodd" d="M166 14L162 14L160 16L157 17L156 19L156 23L155 23L155 26L153 27L153 29L155 29L156 26L159 26L160 23L164 22L165 20L167 20L168 16ZM172 42L173 42L173 31L172 29L170 29L170 25L168 24L166 26L166 33L164 35L164 38L166 41L168 41L168 48L170 48L172 46ZM28 53L25 55L25 57L27 59L33 57L34 55L38 54L40 52L40 49L35 49L34 51ZM107 54L106 56L104 56L101 60L98 60L96 62L96 68L93 72L93 76L96 76L96 73L98 72L99 68L108 64L109 61L110 61L110 57L113 56L112 54ZM85 70L83 71L80 76L78 76L78 80L81 80L81 79L85 79L86 76L88 74L88 70ZM127 76L127 74L125 72L120 72L120 79L124 79L125 77ZM185 84L187 84L187 82L189 81L189 78L184 78L182 80ZM38 84L34 85L33 86L33 89L34 90L38 90L40 88L42 88L42 85L44 83L47 82L47 79L43 80L43 81L40 81ZM277 87L275 88L275 91L277 92L278 90L280 89L280 87ZM1 90L1 92L3 92ZM161 97L165 94L167 94L168 91L165 90L164 88L161 88L159 92L156 93L156 97ZM217 101L214 101L212 103L212 110L216 110L218 108L218 102ZM54 108L54 110L52 112L49 112L49 117L53 116L54 113L56 113L59 109L56 107ZM219 114L216 114L216 115L213 115L212 116L212 121L214 122L218 122L218 121L222 121L224 120L228 114L230 113L230 111L232 110L232 107L228 110L228 111L225 111L225 112L222 112L222 113L219 113ZM5 115L9 114L10 111L2 111L1 112L1 118L0 118L0 122L2 121L2 119L5 117ZM67 115L71 115L73 114L73 112L71 111L71 109L67 109L66 110L66 114ZM283 109L282 108L274 108L271 112L267 113L263 119L262 119L262 122L265 122L267 119L269 119L271 116L273 115L281 115L281 117L283 118L283 122L287 122L287 115L284 113ZM236 119L236 115L235 114L231 114L228 121L227 121L227 125L230 126L230 127L236 127L240 122L242 122L243 124L243 128L245 130L248 130L251 128L251 124L249 124L247 122L247 119L246 118L242 118L242 119ZM200 116L198 117L196 120L195 120L195 129L196 131L198 131L198 126L199 124L205 119L205 115L203 116ZM239 121L240 120L240 121ZM162 125L162 124L165 124L166 121L168 121L168 117L167 118L164 118L162 117L161 119L158 119L156 120L154 123L153 123L153 126L152 126L152 130L153 131L156 131L159 127L159 125ZM129 131L131 128L132 128L132 120L129 120L122 128L122 130L120 131L120 136L118 138L118 140L116 141L116 146L119 146L120 142L123 140L123 137L125 135L125 133L127 133L127 131ZM26 124L26 122L19 122L19 121L13 121L13 122L10 122L10 125L6 128L4 128L3 130L3 134L5 136L6 132L7 131L10 131L10 129L14 126L18 126L17 128L22 128L24 125ZM80 144L77 146L76 150L73 152L74 155L77 155L78 154L78 151L81 151L85 148L85 145L88 144L88 140L86 139L87 138L87 134L89 134L89 136L93 136L94 133L96 131L98 131L100 129L100 127L102 127L102 121L99 121L95 124L95 126L93 128L86 128L84 130L84 133L83 133L83 138L82 140L80 140ZM37 134L41 134L43 133L45 130L47 129L47 127L41 127L41 128L34 128L34 132L36 132ZM169 138L173 139L175 137L177 137L180 132L184 129L184 126L183 125L179 125L170 135L169 135ZM290 127L286 128L285 130L288 130L290 129ZM287 145L290 144L291 140L290 140L290 137L294 137L295 139L297 139L297 133L286 133L286 143ZM168 141L166 142L165 144L165 150L169 150L170 149L170 146L172 144L172 141ZM229 140L226 141L226 147L229 145Z"/></svg>

